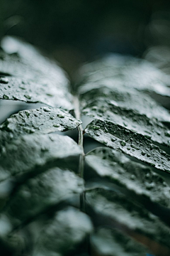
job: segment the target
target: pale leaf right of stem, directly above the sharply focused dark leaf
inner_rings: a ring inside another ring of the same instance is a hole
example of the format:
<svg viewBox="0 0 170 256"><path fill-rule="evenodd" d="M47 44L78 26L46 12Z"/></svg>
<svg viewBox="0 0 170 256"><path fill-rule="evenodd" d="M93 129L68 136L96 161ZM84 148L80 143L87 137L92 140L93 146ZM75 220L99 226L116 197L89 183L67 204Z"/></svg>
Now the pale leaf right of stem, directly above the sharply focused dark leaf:
<svg viewBox="0 0 170 256"><path fill-rule="evenodd" d="M139 114L135 110L127 110L125 107L118 107L116 103L101 99L90 102L81 112L93 119L120 124L138 134L150 137L153 142L170 146L169 129L157 119L149 119L145 114Z"/></svg>

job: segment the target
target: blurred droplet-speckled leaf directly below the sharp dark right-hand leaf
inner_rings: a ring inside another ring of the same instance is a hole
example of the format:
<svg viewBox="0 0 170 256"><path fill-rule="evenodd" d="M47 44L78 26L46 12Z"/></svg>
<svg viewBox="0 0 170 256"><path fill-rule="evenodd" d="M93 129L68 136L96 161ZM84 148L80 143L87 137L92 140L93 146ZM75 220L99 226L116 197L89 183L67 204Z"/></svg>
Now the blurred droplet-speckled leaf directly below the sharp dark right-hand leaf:
<svg viewBox="0 0 170 256"><path fill-rule="evenodd" d="M124 154L101 147L86 155L91 176L107 178L152 202L170 206L170 188L152 169L131 161ZM103 180L103 179L102 179Z"/></svg>

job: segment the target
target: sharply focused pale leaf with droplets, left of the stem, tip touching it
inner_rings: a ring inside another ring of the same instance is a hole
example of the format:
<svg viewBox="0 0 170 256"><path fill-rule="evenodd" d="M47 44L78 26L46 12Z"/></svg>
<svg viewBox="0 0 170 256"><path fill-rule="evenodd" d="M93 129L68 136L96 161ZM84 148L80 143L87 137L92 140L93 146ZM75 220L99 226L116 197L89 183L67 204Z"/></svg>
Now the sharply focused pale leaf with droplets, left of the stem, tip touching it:
<svg viewBox="0 0 170 256"><path fill-rule="evenodd" d="M40 134L64 132L68 129L75 129L79 124L81 121L65 110L40 107L38 110L23 110L11 115L4 124L1 124L0 130L1 137L3 137L3 132L8 132L8 137L17 137L34 132Z"/></svg>

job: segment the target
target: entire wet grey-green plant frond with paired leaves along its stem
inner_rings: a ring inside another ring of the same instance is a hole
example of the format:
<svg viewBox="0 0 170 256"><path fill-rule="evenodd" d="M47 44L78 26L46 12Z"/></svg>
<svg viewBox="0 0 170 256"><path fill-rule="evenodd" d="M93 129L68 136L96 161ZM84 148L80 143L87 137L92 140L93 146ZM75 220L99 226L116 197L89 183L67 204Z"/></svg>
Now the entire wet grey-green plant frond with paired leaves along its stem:
<svg viewBox="0 0 170 256"><path fill-rule="evenodd" d="M46 105L0 127L2 255L168 256L170 115L148 95L169 97L164 75L112 55L79 70L73 97L38 50L2 46L1 99ZM84 131L80 115L92 119ZM62 134L76 128L79 144ZM83 134L103 146L84 155Z"/></svg>

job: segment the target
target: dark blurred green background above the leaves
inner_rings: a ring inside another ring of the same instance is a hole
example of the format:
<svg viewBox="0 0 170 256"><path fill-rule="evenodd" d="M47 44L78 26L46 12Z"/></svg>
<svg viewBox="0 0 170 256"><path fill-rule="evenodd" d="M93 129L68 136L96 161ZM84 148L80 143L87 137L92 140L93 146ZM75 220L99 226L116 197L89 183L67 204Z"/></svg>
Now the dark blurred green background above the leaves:
<svg viewBox="0 0 170 256"><path fill-rule="evenodd" d="M1 37L24 38L72 75L104 53L147 58L170 72L170 1L0 0Z"/></svg>

